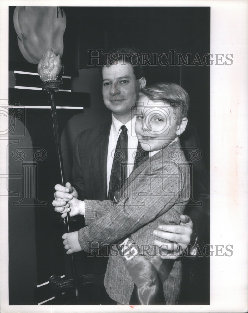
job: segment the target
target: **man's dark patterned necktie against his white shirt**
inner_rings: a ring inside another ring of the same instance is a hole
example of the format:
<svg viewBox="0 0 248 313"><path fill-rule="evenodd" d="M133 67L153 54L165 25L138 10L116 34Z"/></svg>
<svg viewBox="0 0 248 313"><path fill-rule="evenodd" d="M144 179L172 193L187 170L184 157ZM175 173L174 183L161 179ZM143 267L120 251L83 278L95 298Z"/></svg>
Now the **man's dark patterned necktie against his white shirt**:
<svg viewBox="0 0 248 313"><path fill-rule="evenodd" d="M125 125L121 126L121 133L117 140L114 151L113 164L109 180L108 198L114 200L117 198L121 186L127 177L127 161L128 161L128 134Z"/></svg>

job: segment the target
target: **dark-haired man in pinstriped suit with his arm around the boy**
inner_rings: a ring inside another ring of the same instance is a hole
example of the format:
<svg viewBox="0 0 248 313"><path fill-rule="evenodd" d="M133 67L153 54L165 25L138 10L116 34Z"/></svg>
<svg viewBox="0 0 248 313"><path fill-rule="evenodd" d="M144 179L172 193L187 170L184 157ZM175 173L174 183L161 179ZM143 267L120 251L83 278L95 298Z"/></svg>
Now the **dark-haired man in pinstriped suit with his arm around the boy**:
<svg viewBox="0 0 248 313"><path fill-rule="evenodd" d="M135 117L132 117L131 108L137 99L138 89L145 87L146 80L143 69L137 62L135 50L117 49L110 52L109 56L113 54L117 56L115 57L117 64L109 64L102 68L103 99L106 107L112 112L112 121L78 135L73 151L71 184L68 183L65 187L55 186L54 197L57 200L53 201L53 205L58 212L62 207L67 207L63 206L60 199L70 198L70 193L82 200L108 198L113 164L112 152L115 150L122 125L126 126L128 134L127 177L137 163L133 156L137 150L138 139L134 132ZM130 55L133 55L132 64L138 65L133 66L129 63ZM188 244L195 243L195 232L193 232L193 223L189 216L181 215L180 220L180 225L160 225L159 230L154 229L154 235L156 234L163 240L177 242L185 250ZM160 241L155 241L155 244L159 245ZM174 251L176 249L176 245L169 243L168 251L163 251L164 258L175 259L181 252L181 250ZM105 273L105 267L106 262L104 269L99 269L96 264L93 265L93 268L97 268L97 271L101 273Z"/></svg>

